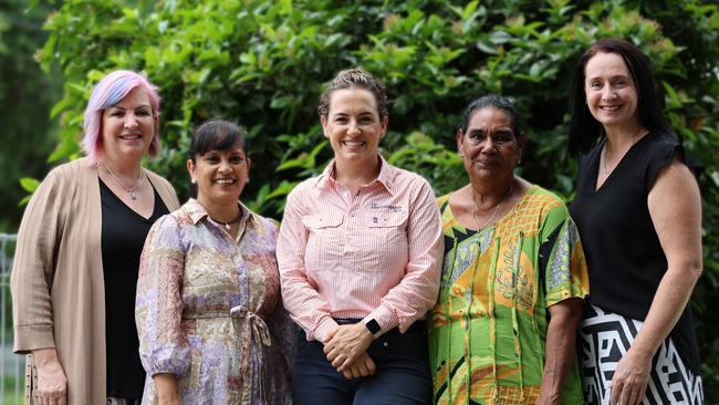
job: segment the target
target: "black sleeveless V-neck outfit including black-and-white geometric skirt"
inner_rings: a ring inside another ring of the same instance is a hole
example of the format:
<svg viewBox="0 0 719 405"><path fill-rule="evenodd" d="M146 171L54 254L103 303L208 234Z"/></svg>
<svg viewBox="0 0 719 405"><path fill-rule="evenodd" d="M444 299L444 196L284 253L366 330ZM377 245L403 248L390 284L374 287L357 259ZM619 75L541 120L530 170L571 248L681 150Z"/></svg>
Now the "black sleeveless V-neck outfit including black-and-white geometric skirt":
<svg viewBox="0 0 719 405"><path fill-rule="evenodd" d="M592 285L579 334L587 404L609 403L616 365L642 329L667 271L647 206L649 191L675 155L687 162L674 136L649 133L627 150L596 189L604 143L580 159L576 197L571 206ZM643 404L704 403L692 323L687 307L653 359Z"/></svg>

